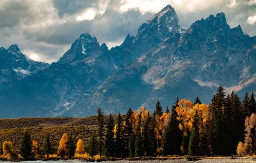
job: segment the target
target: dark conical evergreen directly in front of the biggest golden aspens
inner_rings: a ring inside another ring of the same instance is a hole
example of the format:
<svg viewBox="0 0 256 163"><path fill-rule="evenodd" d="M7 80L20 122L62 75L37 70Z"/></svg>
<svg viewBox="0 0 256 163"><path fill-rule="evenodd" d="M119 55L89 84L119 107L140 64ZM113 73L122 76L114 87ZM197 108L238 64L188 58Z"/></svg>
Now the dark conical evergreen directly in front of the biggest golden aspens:
<svg viewBox="0 0 256 163"><path fill-rule="evenodd" d="M199 150L199 143L200 143L200 134L199 134L199 117L198 112L195 112L192 121L192 133L189 139L189 155L198 156L200 154Z"/></svg>

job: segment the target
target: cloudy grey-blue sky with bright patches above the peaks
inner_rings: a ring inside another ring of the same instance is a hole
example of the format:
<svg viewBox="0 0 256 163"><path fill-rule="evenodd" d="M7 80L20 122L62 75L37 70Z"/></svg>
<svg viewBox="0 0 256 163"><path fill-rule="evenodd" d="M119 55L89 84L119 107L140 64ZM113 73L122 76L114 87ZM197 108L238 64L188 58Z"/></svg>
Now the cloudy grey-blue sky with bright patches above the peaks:
<svg viewBox="0 0 256 163"><path fill-rule="evenodd" d="M110 49L168 4L182 27L224 12L231 28L256 36L256 0L0 0L0 47L52 63L89 33Z"/></svg>

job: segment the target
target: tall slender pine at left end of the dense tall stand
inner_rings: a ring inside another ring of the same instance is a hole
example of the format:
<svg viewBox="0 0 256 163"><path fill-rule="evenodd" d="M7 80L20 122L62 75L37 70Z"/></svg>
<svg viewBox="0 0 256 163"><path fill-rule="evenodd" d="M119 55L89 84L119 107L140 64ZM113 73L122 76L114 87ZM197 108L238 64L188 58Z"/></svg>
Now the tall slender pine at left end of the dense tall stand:
<svg viewBox="0 0 256 163"><path fill-rule="evenodd" d="M99 136L99 153L102 155L102 145L104 141L104 115L101 108L97 109L98 115L98 136Z"/></svg>

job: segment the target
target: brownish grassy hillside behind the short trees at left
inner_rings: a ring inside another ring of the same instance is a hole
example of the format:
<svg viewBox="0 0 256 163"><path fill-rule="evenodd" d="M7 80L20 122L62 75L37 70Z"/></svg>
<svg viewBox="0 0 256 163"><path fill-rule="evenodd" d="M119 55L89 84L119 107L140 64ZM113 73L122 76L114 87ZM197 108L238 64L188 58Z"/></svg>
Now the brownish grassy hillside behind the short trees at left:
<svg viewBox="0 0 256 163"><path fill-rule="evenodd" d="M107 120L109 116L105 115ZM113 115L117 121L118 115ZM124 115L122 115L124 118ZM19 149L21 138L25 130L30 131L32 141L36 140L42 147L46 133L51 135L52 146L58 148L63 133L72 135L77 141L82 139L85 148L93 131L97 131L97 116L85 118L13 118L0 119L0 145L4 141L11 141L16 151ZM86 150L86 149L85 149Z"/></svg>

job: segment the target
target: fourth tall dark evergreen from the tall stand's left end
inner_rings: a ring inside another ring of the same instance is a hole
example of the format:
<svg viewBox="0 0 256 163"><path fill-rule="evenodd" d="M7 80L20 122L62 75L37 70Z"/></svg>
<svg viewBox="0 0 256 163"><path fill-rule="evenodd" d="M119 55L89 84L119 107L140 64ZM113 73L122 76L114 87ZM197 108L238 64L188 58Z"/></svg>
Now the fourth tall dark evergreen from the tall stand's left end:
<svg viewBox="0 0 256 163"><path fill-rule="evenodd" d="M130 108L125 115L124 136L123 136L124 156L130 155L129 144L130 144L131 135L133 134L133 128L132 128L132 122L131 122L131 117L133 114L134 112Z"/></svg>

